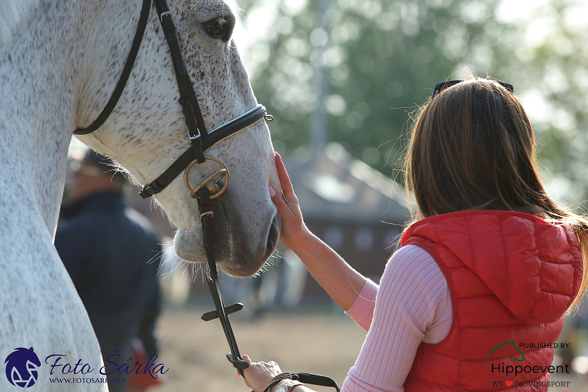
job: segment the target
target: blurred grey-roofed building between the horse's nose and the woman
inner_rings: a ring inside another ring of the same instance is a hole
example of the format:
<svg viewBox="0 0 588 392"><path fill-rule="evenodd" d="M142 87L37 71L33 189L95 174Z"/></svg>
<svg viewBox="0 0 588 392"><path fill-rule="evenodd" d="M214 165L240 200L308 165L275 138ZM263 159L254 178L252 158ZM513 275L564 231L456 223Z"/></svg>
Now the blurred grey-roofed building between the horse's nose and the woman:
<svg viewBox="0 0 588 392"><path fill-rule="evenodd" d="M309 229L353 268L378 283L410 219L404 190L331 144L311 160L284 157ZM327 294L309 277L304 296Z"/></svg>

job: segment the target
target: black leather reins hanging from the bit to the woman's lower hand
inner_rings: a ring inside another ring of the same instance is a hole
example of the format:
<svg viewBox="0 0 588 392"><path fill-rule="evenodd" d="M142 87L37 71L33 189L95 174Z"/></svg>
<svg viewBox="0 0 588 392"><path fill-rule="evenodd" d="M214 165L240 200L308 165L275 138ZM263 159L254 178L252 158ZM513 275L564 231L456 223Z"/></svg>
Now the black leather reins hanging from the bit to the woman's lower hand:
<svg viewBox="0 0 588 392"><path fill-rule="evenodd" d="M249 364L241 358L239 347L237 347L237 341L235 340L235 335L232 332L228 317L231 313L243 309L243 304L237 303L225 306L221 290L219 290L219 287L217 286L219 275L217 273L217 263L214 259L216 234L214 232L214 214L212 212L212 205L210 204L210 190L208 187L201 187L201 189L196 192L196 201L198 202L198 208L200 210L204 250L206 253L206 259L208 260L208 275L206 276L206 283L208 283L208 290L210 290L210 295L212 295L212 301L214 301L215 308L215 310L205 312L201 319L204 321L219 319L221 321L221 326L223 327L230 348L230 353L227 354L227 359L232 366L237 368L239 374L245 377L243 370L248 368ZM331 386L336 389L337 392L340 391L337 383L332 378L324 375L311 373L282 373L280 376L282 377L280 380L277 380L277 382L288 379L299 380L306 384ZM270 383L266 389L269 389L271 386L273 385Z"/></svg>

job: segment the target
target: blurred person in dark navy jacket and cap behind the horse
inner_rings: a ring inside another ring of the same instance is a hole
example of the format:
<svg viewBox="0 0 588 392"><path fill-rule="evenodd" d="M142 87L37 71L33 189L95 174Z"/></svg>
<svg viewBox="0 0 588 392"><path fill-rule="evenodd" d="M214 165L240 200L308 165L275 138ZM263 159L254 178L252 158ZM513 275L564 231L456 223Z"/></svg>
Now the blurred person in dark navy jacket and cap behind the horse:
<svg viewBox="0 0 588 392"><path fill-rule="evenodd" d="M127 180L109 158L89 149L71 166L55 248L100 342L104 372L116 371L129 357L132 368L157 353L160 290L158 263L151 261L161 245L147 218L127 206ZM140 391L149 384L131 380L109 384L109 390Z"/></svg>

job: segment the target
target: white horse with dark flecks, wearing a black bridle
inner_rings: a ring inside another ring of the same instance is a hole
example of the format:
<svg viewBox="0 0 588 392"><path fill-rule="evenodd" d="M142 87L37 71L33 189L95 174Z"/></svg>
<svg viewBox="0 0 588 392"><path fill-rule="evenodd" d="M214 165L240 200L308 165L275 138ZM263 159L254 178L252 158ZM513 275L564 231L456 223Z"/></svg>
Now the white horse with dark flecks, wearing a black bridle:
<svg viewBox="0 0 588 392"><path fill-rule="evenodd" d="M230 39L235 6L225 0L168 1L208 129L252 109L255 96ZM47 355L67 355L64 362L72 366L78 359L94 368L102 362L53 236L73 129L91 124L109 99L140 8L140 0L0 3L0 364L15 348L34 347L42 362L38 391L106 389L48 381ZM206 22L219 17L223 30L211 34ZM158 18L151 5L136 63L113 113L98 131L79 137L142 184L190 147ZM257 122L215 144L207 155L221 158L230 171L228 190L215 207L217 262L235 276L254 274L279 237L279 218L268 195L268 184L279 189L269 130ZM192 169L190 183L216 170L205 162ZM181 177L156 199L178 227L178 256L203 262L198 208ZM64 377L59 368L55 375ZM0 375L0 389L8 388Z"/></svg>

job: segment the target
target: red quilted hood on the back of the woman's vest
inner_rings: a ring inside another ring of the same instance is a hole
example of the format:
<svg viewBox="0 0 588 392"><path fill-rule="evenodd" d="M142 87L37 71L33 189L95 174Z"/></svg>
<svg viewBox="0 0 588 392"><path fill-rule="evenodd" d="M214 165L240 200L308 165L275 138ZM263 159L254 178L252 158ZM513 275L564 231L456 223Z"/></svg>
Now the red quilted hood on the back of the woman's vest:
<svg viewBox="0 0 588 392"><path fill-rule="evenodd" d="M582 281L582 251L569 227L531 214L455 212L425 218L403 234L448 248L523 321L553 322Z"/></svg>

